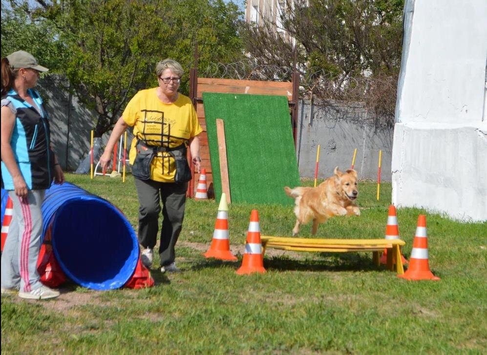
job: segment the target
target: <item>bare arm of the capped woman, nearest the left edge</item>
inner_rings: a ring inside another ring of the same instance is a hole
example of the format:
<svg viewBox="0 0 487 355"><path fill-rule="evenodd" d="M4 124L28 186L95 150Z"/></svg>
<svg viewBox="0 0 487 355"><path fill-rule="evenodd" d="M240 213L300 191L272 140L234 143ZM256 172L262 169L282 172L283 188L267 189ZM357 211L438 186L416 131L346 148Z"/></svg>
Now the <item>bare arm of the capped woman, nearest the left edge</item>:
<svg viewBox="0 0 487 355"><path fill-rule="evenodd" d="M10 145L15 125L15 114L7 106L1 108L1 160L14 182L15 194L19 197L27 196L27 184L21 170L15 161L14 151Z"/></svg>

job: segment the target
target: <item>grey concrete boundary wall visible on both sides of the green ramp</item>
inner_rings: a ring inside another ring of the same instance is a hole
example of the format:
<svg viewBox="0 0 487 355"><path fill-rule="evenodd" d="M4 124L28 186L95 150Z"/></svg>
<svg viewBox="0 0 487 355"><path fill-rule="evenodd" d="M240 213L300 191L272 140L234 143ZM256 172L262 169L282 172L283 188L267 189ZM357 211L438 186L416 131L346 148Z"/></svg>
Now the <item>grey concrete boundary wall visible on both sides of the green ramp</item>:
<svg viewBox="0 0 487 355"><path fill-rule="evenodd" d="M89 154L90 131L97 114L80 104L76 95L69 97L68 83L64 78L55 75L43 78L39 89L51 118L52 142L61 166L67 171L75 171ZM319 144L320 178L331 176L336 166L342 170L350 168L354 149L357 148L354 168L360 179L375 180L379 149L382 149L381 178L390 181L393 131L377 128L374 121L373 115L368 114L362 104L328 102L323 105L301 100L296 148L300 176L314 177ZM103 136L103 145L108 135ZM131 139L129 133L127 141ZM86 164L89 168L89 162L85 162L83 167Z"/></svg>

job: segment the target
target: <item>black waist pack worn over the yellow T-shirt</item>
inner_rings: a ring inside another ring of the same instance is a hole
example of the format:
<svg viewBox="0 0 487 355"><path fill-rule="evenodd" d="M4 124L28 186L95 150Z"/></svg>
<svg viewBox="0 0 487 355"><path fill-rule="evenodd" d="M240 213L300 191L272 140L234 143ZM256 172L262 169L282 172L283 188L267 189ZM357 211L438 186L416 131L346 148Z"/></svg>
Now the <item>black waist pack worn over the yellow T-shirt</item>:
<svg viewBox="0 0 487 355"><path fill-rule="evenodd" d="M167 151L176 163L175 183L182 183L191 180L191 170L186 158L186 145L183 143L174 148L163 146L148 146L144 141L137 140L135 145L137 155L132 164L132 175L141 180L150 179L150 163L158 152Z"/></svg>

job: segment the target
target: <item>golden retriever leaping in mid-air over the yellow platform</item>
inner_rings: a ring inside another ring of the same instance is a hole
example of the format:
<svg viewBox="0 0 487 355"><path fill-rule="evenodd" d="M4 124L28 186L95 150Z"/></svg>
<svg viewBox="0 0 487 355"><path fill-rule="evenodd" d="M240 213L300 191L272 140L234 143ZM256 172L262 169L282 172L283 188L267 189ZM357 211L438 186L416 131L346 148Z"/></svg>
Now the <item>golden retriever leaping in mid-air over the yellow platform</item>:
<svg viewBox="0 0 487 355"><path fill-rule="evenodd" d="M289 197L295 199L296 225L293 235L299 232L300 225L307 224L310 220L313 220L311 233L315 235L318 224L325 223L328 218L353 214L360 216L360 209L354 204L359 191L357 171L353 169L341 172L336 167L334 175L316 188L286 186L284 190Z"/></svg>

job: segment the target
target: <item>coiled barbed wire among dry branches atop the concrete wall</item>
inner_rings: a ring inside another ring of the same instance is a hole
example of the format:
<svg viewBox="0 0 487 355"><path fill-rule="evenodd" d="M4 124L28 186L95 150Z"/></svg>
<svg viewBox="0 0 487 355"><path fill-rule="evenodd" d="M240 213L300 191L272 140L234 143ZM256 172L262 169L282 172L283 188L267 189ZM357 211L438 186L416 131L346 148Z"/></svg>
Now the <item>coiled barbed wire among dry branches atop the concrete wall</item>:
<svg viewBox="0 0 487 355"><path fill-rule="evenodd" d="M397 76L350 76L323 68L296 68L299 74L299 98L314 100L314 104L338 107L360 103L368 120L376 126L394 125L397 97ZM293 68L274 64L259 64L248 59L237 63L211 63L198 71L199 77L290 82Z"/></svg>

